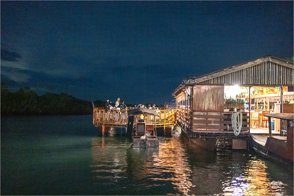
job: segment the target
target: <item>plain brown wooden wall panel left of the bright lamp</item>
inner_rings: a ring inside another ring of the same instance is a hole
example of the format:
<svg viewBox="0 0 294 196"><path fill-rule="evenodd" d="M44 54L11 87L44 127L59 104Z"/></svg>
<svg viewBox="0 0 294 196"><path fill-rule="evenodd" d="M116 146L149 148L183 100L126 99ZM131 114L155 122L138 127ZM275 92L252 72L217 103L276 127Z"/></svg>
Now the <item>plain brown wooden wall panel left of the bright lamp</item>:
<svg viewBox="0 0 294 196"><path fill-rule="evenodd" d="M223 112L224 86L194 85L193 111Z"/></svg>

